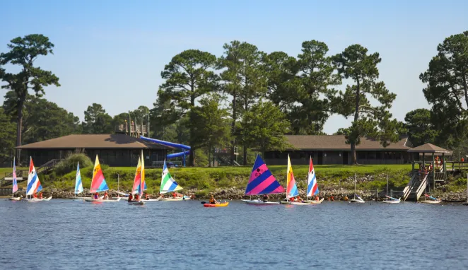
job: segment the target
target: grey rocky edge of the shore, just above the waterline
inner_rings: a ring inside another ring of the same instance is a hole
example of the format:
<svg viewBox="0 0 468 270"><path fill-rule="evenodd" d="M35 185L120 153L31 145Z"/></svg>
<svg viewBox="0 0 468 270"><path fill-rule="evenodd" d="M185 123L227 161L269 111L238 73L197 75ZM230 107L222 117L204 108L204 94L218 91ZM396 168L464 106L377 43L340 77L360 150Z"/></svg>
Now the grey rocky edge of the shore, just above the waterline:
<svg viewBox="0 0 468 270"><path fill-rule="evenodd" d="M211 194L215 196L216 199L248 199L250 196L245 196L245 189L240 189L237 187L230 187L230 188L223 188L223 189L215 189L214 191L204 191L204 190L199 190L199 189L186 189L182 192L182 194L185 194L187 196L195 195L197 199L208 199ZM375 192L370 192L370 191L363 191L363 190L358 190L357 193L359 196L361 196L364 200L370 201L370 200L375 200ZM111 197L117 197L119 194L117 192L111 190L108 192L108 194ZM346 200L346 198L351 198L354 194L354 190L349 190L349 189L322 189L320 191L319 197L324 198L325 200L331 199L335 201L343 201ZM16 192L16 196L23 196L25 197L25 192L18 191ZM43 191L42 196L47 198L48 196L51 196L53 199L73 199L75 194L74 192L69 192L69 191L63 191L59 189L45 189ZM300 191L299 195L303 198L305 198L305 192ZM85 189L83 193L79 194L78 196L89 196L91 197L91 194L89 192L89 189ZM151 199L156 199L159 195L158 194L150 194ZM435 194L434 196L437 196L440 199L443 199L445 201L467 201L467 193L466 192L446 192L446 193L438 193ZM257 196L252 196L252 199ZM285 197L284 194L271 194L269 195L271 200L281 200ZM399 197L399 196L395 196ZM385 194L378 194L378 201L385 199Z"/></svg>

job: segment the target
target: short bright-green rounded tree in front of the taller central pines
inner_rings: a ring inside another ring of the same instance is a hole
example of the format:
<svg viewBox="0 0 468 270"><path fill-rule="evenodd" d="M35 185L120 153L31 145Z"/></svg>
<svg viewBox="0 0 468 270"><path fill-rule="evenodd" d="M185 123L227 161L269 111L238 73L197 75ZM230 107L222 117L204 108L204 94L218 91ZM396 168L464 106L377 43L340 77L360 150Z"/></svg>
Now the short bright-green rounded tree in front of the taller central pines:
<svg viewBox="0 0 468 270"><path fill-rule="evenodd" d="M260 102L242 117L242 143L265 151L283 151L288 147L286 134L291 127L288 119L272 102Z"/></svg>

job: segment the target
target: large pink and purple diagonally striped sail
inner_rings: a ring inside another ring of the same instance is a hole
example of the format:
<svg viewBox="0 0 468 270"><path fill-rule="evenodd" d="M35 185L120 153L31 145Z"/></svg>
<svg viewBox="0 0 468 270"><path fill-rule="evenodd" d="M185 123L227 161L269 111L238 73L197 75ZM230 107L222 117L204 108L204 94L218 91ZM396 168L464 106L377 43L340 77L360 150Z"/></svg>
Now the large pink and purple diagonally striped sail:
<svg viewBox="0 0 468 270"><path fill-rule="evenodd" d="M267 165L263 162L260 155L255 159L254 167L250 173L249 182L245 188L245 195L260 195L260 194L276 194L283 193L284 188L281 187L276 178L268 170Z"/></svg>

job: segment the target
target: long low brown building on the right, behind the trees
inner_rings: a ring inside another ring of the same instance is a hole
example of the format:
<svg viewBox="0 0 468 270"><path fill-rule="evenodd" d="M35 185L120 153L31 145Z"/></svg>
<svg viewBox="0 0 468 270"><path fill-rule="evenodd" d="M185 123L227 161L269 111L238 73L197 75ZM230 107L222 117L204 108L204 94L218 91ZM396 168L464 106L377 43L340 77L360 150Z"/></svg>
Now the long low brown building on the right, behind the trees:
<svg viewBox="0 0 468 270"><path fill-rule="evenodd" d="M269 165L286 165L287 155L293 164L309 164L312 156L316 165L351 164L351 146L346 144L344 135L285 135L293 148L286 151L265 152L265 162ZM404 164L413 160L408 150L413 146L407 137L384 147L380 141L361 138L356 146L359 164Z"/></svg>

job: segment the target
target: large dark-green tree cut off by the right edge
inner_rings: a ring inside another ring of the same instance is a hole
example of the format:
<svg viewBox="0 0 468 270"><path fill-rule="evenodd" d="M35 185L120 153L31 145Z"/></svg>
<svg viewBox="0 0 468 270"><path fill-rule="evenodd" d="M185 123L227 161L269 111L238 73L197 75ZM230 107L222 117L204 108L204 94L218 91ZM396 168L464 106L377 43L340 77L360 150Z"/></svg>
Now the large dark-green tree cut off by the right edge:
<svg viewBox="0 0 468 270"><path fill-rule="evenodd" d="M440 131L437 143L452 148L468 134L468 31L447 37L437 50L419 78L426 83L431 122Z"/></svg>

